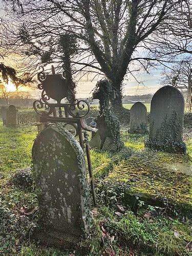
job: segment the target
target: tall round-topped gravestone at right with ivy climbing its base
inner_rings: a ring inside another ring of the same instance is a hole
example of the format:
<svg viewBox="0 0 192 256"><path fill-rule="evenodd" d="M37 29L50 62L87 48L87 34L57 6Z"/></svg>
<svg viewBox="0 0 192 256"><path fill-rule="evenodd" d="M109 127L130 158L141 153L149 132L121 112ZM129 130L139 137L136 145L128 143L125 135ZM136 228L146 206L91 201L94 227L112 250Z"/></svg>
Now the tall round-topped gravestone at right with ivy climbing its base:
<svg viewBox="0 0 192 256"><path fill-rule="evenodd" d="M154 150L185 153L182 141L184 98L171 86L164 86L153 96L150 114L150 135L146 146Z"/></svg>

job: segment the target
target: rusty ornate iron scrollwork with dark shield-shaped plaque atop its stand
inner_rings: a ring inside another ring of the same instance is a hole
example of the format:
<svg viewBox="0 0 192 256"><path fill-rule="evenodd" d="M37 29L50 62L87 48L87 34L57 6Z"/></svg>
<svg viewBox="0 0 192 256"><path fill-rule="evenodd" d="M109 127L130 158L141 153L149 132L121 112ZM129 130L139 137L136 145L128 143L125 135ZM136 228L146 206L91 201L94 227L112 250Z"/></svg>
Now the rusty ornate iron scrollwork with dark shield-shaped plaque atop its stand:
<svg viewBox="0 0 192 256"><path fill-rule="evenodd" d="M55 74L54 68L52 66L53 74L46 74L44 68L37 74L37 78L40 81L38 84L38 89L42 90L41 99L35 100L33 103L34 110L41 114L42 110L44 115L51 115L55 107L59 108L59 116L62 117L61 108L65 109L65 114L72 117L84 117L90 111L89 103L85 100L75 99L73 90L68 85L67 79L62 74ZM61 103L61 100L66 98L68 103ZM56 100L57 103L52 103L52 100ZM39 112L40 110L40 112ZM81 114L78 111L87 110L85 113Z"/></svg>

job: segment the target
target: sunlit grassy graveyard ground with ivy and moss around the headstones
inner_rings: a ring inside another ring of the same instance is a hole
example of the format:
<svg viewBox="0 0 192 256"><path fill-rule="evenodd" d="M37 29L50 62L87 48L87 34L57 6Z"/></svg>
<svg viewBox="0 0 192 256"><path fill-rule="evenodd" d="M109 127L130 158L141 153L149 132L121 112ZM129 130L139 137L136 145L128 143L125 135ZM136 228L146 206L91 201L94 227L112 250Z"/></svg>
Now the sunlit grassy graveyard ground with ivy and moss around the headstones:
<svg viewBox="0 0 192 256"><path fill-rule="evenodd" d="M147 150L146 136L126 131L121 131L125 152L91 150L98 204L92 207L90 234L63 251L33 240L35 184L29 170L21 180L15 175L32 166L36 127L10 129L0 122L2 255L190 255L192 140L184 134L186 155Z"/></svg>

